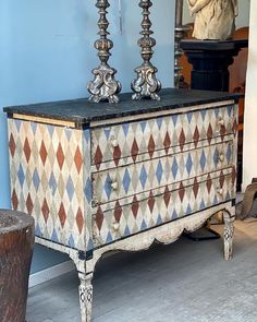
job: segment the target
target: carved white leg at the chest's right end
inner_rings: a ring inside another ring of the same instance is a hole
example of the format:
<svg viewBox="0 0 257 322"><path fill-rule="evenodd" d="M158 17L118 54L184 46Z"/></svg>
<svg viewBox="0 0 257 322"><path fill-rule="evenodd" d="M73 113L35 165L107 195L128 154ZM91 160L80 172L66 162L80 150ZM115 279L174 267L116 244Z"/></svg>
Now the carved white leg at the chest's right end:
<svg viewBox="0 0 257 322"><path fill-rule="evenodd" d="M234 238L234 216L228 211L223 211L224 218L224 259L227 261L232 259L232 247Z"/></svg>

